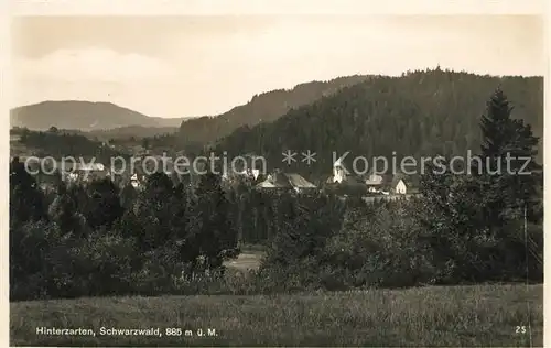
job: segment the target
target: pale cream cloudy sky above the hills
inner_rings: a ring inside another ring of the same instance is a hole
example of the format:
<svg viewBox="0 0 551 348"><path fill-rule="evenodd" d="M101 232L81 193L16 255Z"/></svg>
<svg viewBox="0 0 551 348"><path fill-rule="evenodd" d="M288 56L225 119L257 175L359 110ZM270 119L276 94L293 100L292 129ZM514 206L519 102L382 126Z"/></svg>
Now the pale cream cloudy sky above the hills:
<svg viewBox="0 0 551 348"><path fill-rule="evenodd" d="M195 117L354 74L544 75L543 35L530 15L20 17L12 107L90 100Z"/></svg>

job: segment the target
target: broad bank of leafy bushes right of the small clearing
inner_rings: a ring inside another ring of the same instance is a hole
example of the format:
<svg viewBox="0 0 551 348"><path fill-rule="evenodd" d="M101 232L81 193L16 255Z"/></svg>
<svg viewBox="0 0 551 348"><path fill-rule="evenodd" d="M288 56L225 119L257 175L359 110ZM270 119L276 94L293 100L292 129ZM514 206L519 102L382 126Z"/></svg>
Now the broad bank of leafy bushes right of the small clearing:
<svg viewBox="0 0 551 348"><path fill-rule="evenodd" d="M463 233L445 225L426 228L426 204L356 202L341 225L331 224L320 207L320 215L298 214L273 240L256 276L272 291L283 292L526 280L527 246L520 221L509 224L499 236ZM434 216L433 221L440 224ZM541 281L541 226L530 225L528 236L528 275Z"/></svg>

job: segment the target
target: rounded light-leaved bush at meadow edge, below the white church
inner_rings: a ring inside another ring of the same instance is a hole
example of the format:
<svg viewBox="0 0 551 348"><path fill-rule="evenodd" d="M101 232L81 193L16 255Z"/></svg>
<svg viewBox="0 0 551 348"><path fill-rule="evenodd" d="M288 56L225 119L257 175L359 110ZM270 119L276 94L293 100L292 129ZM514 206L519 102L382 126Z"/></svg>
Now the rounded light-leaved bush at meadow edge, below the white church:
<svg viewBox="0 0 551 348"><path fill-rule="evenodd" d="M347 211L343 229L327 243L323 262L339 287L432 284L440 276L413 204L393 202ZM335 286L335 284L333 285Z"/></svg>

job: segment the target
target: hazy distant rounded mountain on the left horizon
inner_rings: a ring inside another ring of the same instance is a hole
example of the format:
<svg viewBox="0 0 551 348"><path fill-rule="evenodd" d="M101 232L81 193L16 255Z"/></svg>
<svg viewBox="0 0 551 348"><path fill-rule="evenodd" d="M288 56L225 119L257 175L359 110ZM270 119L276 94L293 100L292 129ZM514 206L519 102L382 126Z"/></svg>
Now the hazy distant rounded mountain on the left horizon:
<svg viewBox="0 0 551 348"><path fill-rule="evenodd" d="M58 129L99 131L125 127L177 128L184 118L149 117L128 108L104 101L42 101L18 107L10 112L11 127L32 130Z"/></svg>

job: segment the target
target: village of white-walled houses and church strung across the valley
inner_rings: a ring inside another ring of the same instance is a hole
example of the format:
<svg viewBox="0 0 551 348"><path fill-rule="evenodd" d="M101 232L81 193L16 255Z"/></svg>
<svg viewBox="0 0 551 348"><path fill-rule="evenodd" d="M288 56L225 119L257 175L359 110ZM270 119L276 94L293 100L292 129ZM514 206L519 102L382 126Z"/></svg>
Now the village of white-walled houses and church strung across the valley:
<svg viewBox="0 0 551 348"><path fill-rule="evenodd" d="M24 162L25 157L12 157L12 161ZM161 156L151 156L161 161ZM40 160L39 160L40 161ZM191 167L177 168L173 161L163 159L165 165L162 168L154 168L152 165L136 166L130 171L111 168L104 163L55 163L46 162L43 171L39 170L37 163L29 163L30 171L37 176L39 186L45 192L55 189L56 175L67 184L88 183L95 180L110 178L117 186L123 187L130 184L134 189L142 189L147 181L147 173L162 172L174 183L184 183L194 186L198 182L202 170L193 172ZM151 161L153 163L153 161ZM63 170L62 170L63 168ZM43 173L44 172L44 173ZM182 174L186 173L186 174ZM52 180L53 177L53 180ZM372 202L377 198L397 199L408 198L417 195L417 189L412 181L404 174L377 174L369 173L357 175L350 173L345 164L338 159L333 163L331 174L324 181L309 181L299 173L285 172L280 168L273 168L267 174L259 170L246 168L238 171L227 171L222 174L222 182L226 186L231 186L238 182L245 182L252 188L264 192L294 192L296 194L307 194L315 192L332 192L337 196L346 198L348 196L361 196L366 202Z"/></svg>

